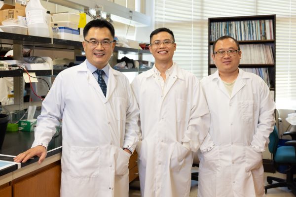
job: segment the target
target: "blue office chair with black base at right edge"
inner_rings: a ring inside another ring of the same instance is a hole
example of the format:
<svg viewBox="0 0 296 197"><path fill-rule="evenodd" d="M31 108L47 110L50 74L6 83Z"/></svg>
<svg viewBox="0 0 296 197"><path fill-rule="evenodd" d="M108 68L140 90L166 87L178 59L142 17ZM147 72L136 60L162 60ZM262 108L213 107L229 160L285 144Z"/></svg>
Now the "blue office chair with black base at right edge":
<svg viewBox="0 0 296 197"><path fill-rule="evenodd" d="M290 189L292 193L296 196L296 182L293 179L293 169L296 166L296 141L287 141L285 145L288 146L278 147L279 136L276 127L274 127L274 130L272 131L272 133L270 133L269 140L270 142L268 145L268 149L269 152L272 154L274 164L287 165L288 169L286 171L286 180L267 176L267 182L270 185L265 186L265 194L270 188L288 187L288 189ZM272 184L272 181L277 181L278 183Z"/></svg>

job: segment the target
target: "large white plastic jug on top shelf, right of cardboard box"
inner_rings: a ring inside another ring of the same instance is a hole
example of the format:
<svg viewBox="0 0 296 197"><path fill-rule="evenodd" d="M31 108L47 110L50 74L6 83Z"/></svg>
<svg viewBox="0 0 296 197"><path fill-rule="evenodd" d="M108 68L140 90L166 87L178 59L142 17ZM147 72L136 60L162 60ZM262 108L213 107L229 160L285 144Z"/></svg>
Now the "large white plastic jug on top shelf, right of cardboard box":
<svg viewBox="0 0 296 197"><path fill-rule="evenodd" d="M25 10L29 35L49 37L49 29L45 19L46 10L40 0L30 0Z"/></svg>

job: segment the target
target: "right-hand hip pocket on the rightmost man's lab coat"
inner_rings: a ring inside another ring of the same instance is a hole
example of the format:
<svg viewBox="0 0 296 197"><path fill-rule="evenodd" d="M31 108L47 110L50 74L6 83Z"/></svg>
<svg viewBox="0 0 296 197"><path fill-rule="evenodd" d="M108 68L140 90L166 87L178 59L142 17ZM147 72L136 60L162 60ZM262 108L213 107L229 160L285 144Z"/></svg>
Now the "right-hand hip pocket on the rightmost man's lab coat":
<svg viewBox="0 0 296 197"><path fill-rule="evenodd" d="M257 169L262 164L262 153L256 152L251 146L245 148L245 171Z"/></svg>

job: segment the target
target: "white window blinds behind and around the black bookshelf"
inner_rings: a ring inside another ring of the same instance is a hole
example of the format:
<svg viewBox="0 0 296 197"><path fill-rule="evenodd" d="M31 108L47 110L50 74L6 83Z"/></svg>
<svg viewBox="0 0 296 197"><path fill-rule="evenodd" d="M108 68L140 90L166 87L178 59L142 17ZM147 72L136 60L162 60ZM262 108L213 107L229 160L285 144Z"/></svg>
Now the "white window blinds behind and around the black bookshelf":
<svg viewBox="0 0 296 197"><path fill-rule="evenodd" d="M295 0L155 0L155 29L174 32L174 61L197 78L208 75L208 18L276 14L276 104L296 109Z"/></svg>

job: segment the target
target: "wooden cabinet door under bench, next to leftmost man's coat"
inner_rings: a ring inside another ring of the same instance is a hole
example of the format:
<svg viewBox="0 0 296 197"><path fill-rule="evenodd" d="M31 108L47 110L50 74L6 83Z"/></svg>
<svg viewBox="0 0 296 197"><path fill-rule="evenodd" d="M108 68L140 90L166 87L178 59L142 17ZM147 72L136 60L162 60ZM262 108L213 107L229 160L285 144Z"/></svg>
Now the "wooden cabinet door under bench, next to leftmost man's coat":
<svg viewBox="0 0 296 197"><path fill-rule="evenodd" d="M60 197L61 164L13 184L13 197Z"/></svg>

